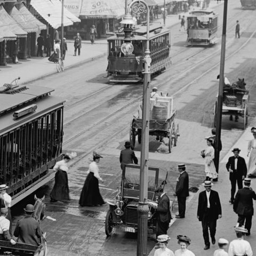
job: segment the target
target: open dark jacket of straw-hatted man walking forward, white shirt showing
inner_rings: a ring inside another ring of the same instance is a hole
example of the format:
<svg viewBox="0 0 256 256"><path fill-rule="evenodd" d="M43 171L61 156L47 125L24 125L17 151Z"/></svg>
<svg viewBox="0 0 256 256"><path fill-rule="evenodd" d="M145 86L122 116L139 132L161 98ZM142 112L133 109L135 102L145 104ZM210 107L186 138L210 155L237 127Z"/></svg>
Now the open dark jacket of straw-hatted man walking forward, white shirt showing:
<svg viewBox="0 0 256 256"><path fill-rule="evenodd" d="M209 218L212 220L217 220L218 215L221 215L221 205L220 198L217 191L211 190L210 192L210 215ZM207 210L207 197L206 190L202 191L198 197L198 206L197 206L197 216L199 216L199 221L202 221L203 216Z"/></svg>

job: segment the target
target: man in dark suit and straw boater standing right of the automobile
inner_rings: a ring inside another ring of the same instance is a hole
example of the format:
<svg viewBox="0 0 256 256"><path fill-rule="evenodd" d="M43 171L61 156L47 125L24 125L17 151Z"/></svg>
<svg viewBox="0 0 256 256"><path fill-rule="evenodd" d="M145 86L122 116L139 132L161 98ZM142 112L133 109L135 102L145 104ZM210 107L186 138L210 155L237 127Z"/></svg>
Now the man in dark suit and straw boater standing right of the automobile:
<svg viewBox="0 0 256 256"><path fill-rule="evenodd" d="M179 164L178 170L180 172L180 176L177 179L175 195L177 196L177 199L178 199L179 214L176 214L175 217L180 219L180 218L185 218L186 199L187 199L187 196L189 196L189 191L188 191L188 173L186 172L186 165Z"/></svg>

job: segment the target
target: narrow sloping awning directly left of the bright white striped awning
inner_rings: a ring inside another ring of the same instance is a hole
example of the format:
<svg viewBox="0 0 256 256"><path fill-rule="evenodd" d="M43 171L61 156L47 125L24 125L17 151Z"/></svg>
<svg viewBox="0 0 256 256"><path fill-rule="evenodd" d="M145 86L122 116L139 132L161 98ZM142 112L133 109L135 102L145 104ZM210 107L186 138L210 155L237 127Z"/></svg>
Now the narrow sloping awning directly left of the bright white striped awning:
<svg viewBox="0 0 256 256"><path fill-rule="evenodd" d="M25 4L20 4L17 6L17 9L19 10L19 13L21 14L22 18L27 22L31 23L29 28L36 28L36 30L33 31L38 31L42 29L46 29L46 25L43 24L41 21L39 21L25 6ZM26 29L24 29L26 30ZM32 30L26 30L27 32L33 32Z"/></svg>

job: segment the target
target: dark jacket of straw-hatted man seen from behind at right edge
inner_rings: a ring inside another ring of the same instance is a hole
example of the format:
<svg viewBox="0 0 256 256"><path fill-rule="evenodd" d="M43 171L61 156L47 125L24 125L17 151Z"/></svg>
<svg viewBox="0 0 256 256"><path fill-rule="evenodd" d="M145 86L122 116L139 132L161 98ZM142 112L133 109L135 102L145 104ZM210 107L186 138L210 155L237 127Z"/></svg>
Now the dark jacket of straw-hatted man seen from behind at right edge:
<svg viewBox="0 0 256 256"><path fill-rule="evenodd" d="M255 192L248 187L238 189L233 205L234 212L241 215L253 215L253 201L256 200Z"/></svg>

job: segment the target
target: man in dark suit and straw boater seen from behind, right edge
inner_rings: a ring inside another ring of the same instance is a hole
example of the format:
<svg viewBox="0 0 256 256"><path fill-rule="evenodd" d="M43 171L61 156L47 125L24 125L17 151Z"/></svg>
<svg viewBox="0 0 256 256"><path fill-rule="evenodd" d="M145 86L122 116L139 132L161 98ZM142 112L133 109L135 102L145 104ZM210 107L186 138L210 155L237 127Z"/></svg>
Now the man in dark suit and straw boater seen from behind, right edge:
<svg viewBox="0 0 256 256"><path fill-rule="evenodd" d="M233 205L234 212L238 214L239 227L244 226L247 229L247 236L251 235L251 227L252 227L252 215L253 215L253 201L256 200L256 194L250 188L251 179L244 179L244 188L238 189Z"/></svg>

